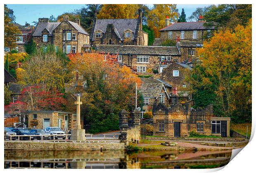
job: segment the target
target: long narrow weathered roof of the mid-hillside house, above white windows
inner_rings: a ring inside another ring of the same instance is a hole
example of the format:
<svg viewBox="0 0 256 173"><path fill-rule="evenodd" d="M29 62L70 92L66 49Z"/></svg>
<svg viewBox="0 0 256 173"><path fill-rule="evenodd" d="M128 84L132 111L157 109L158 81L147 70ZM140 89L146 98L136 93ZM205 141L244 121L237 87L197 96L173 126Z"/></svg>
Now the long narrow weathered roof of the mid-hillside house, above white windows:
<svg viewBox="0 0 256 173"><path fill-rule="evenodd" d="M110 45L97 44L95 50L100 53L119 55L180 55L176 46L134 46L134 45Z"/></svg>

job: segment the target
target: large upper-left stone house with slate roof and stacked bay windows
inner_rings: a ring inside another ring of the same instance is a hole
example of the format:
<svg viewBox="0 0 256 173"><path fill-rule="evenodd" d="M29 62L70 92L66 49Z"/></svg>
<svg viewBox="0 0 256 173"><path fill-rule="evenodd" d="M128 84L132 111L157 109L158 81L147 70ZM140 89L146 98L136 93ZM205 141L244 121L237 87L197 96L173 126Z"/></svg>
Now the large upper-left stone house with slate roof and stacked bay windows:
<svg viewBox="0 0 256 173"><path fill-rule="evenodd" d="M32 35L37 48L47 48L53 44L55 50L64 53L81 53L90 50L89 34L81 27L80 19L69 21L68 16L62 22L49 22L49 18L39 18Z"/></svg>

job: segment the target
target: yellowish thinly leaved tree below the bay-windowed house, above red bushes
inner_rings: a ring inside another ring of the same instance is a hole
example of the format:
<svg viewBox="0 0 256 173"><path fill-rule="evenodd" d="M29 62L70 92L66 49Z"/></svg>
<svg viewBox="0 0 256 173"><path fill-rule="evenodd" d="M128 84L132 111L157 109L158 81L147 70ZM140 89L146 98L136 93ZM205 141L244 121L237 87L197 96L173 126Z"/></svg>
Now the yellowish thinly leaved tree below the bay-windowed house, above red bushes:
<svg viewBox="0 0 256 173"><path fill-rule="evenodd" d="M64 90L64 81L68 74L62 53L56 53L53 46L47 46L46 52L38 51L24 63L21 82L27 84L44 84L45 91L57 88Z"/></svg>

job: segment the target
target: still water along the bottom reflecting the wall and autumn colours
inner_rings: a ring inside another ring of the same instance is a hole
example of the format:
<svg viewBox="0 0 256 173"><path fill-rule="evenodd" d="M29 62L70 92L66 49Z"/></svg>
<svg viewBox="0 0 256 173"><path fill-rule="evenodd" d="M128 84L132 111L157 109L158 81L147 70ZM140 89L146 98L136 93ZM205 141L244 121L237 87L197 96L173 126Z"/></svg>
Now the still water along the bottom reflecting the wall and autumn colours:
<svg viewBox="0 0 256 173"><path fill-rule="evenodd" d="M217 168L232 151L46 151L5 150L5 168Z"/></svg>

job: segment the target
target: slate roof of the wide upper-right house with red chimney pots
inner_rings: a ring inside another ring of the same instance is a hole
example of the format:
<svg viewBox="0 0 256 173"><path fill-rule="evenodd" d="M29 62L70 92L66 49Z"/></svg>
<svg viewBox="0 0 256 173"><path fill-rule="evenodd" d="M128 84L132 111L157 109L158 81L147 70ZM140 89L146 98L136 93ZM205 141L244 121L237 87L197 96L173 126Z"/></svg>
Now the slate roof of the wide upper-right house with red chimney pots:
<svg viewBox="0 0 256 173"><path fill-rule="evenodd" d="M173 30L206 30L214 29L214 27L206 28L205 22L178 22L172 25L166 26L159 31L173 31Z"/></svg>

